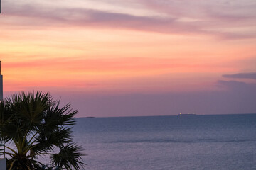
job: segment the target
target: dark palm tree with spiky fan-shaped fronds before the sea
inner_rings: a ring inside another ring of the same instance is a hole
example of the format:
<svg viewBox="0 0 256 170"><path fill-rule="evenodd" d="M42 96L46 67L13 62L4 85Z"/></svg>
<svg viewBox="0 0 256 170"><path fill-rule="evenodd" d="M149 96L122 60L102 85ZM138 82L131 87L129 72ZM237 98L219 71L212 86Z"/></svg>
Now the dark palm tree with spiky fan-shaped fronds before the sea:
<svg viewBox="0 0 256 170"><path fill-rule="evenodd" d="M72 141L70 125L78 111L70 103L60 107L50 94L42 91L14 94L0 102L0 140L9 155L7 168L21 170L82 169L81 147ZM9 150L9 151L8 151ZM48 157L43 165L38 157Z"/></svg>

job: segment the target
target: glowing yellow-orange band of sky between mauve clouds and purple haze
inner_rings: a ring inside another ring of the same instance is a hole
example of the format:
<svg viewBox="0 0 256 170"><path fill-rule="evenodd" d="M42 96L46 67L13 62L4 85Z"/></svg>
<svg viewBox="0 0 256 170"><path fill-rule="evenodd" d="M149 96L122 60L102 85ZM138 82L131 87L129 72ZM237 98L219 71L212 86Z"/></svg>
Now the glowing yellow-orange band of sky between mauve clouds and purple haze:
<svg viewBox="0 0 256 170"><path fill-rule="evenodd" d="M90 89L95 90L129 91L136 90L132 84L138 79L147 90L162 89L165 84L166 91L191 90L180 84L193 79L192 89L198 90L222 74L254 69L249 62L255 52L252 40L98 28L6 28L1 35L6 91L36 86L86 91L88 84L94 84ZM242 60L248 62L242 64ZM179 87L165 79L174 79Z"/></svg>

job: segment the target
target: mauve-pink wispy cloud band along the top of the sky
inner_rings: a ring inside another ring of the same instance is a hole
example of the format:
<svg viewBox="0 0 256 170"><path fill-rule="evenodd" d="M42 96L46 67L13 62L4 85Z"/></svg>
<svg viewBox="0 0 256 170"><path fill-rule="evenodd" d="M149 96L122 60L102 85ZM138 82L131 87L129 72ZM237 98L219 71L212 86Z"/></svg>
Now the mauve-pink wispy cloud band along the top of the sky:
<svg viewBox="0 0 256 170"><path fill-rule="evenodd" d="M104 1L106 3L106 1ZM20 4L6 6L4 21L13 26L80 26L152 31L156 33L215 35L225 39L255 38L255 13L241 10L238 5L191 3L191 1L136 1L159 15L136 16L121 11L66 6ZM130 1L135 3L135 1ZM120 3L119 3L120 4ZM122 6L122 4L120 4ZM191 7L189 7L191 6ZM190 8L193 8L191 10ZM220 11L218 8L223 8ZM235 11L235 12L234 12ZM11 19L8 19L10 17ZM14 19L16 17L16 19ZM22 20L21 20L22 18ZM22 21L22 22L21 22ZM250 28L251 31L237 31ZM224 28L224 29L223 29Z"/></svg>

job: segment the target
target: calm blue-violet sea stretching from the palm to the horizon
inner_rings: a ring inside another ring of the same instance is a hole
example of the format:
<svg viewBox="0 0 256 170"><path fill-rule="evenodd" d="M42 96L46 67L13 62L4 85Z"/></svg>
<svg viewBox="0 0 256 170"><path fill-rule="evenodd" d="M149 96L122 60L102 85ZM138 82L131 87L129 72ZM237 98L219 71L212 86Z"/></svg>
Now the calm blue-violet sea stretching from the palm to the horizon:
<svg viewBox="0 0 256 170"><path fill-rule="evenodd" d="M89 170L256 169L256 114L78 118Z"/></svg>

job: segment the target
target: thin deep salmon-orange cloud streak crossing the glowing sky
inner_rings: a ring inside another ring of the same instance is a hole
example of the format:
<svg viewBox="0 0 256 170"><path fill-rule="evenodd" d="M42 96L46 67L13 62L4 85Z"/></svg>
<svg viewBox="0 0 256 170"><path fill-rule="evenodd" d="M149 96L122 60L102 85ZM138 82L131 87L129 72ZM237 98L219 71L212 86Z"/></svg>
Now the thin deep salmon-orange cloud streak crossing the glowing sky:
<svg viewBox="0 0 256 170"><path fill-rule="evenodd" d="M223 63L222 63L223 64ZM110 57L110 58L65 58L53 57L48 59L38 59L30 61L6 62L6 69L37 69L38 72L43 69L57 70L63 72L110 72L111 74L120 74L122 72L137 72L146 74L169 74L174 72L213 72L218 69L222 72L222 64L219 62L208 63L199 61L199 59L189 58L169 58L169 57ZM69 70L69 71L68 71ZM46 70L47 71L47 70Z"/></svg>

